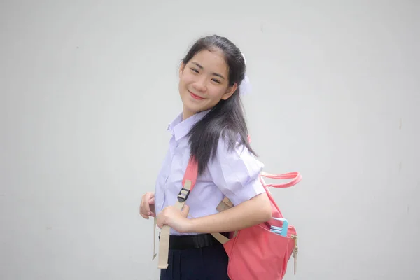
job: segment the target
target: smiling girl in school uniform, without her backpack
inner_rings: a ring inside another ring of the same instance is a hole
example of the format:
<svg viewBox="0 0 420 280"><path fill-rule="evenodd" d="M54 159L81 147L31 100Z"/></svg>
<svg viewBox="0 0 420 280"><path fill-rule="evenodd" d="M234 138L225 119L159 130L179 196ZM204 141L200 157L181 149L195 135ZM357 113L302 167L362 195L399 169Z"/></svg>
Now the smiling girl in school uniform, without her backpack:
<svg viewBox="0 0 420 280"><path fill-rule="evenodd" d="M141 199L140 215L171 227L168 268L160 279L228 278L228 256L210 232L232 232L269 221L271 204L258 175L262 163L248 143L239 85L244 57L221 36L200 38L182 59L183 111L169 124L169 150L155 193ZM198 162L194 190L181 211L176 203L190 157ZM228 197L235 205L217 211ZM193 218L192 218L193 217Z"/></svg>

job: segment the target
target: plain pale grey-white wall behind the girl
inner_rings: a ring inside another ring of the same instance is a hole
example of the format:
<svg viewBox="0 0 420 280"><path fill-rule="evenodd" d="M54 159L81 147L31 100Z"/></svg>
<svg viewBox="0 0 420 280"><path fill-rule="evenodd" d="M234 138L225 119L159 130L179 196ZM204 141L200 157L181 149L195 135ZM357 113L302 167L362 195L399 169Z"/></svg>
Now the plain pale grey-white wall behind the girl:
<svg viewBox="0 0 420 280"><path fill-rule="evenodd" d="M245 53L286 279L419 279L419 1L0 2L0 279L158 279L138 215L199 36Z"/></svg>

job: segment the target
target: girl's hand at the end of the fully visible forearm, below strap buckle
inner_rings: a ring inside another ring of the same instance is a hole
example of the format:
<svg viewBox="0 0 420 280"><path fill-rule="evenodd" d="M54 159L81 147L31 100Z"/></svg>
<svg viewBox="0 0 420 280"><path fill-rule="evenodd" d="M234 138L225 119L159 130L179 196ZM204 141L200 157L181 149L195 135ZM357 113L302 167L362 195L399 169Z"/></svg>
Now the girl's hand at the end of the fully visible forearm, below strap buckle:
<svg viewBox="0 0 420 280"><path fill-rule="evenodd" d="M188 232L191 226L190 219L187 218L189 211L188 205L184 205L181 211L173 206L165 207L158 215L157 225L159 228L169 225L177 232Z"/></svg>

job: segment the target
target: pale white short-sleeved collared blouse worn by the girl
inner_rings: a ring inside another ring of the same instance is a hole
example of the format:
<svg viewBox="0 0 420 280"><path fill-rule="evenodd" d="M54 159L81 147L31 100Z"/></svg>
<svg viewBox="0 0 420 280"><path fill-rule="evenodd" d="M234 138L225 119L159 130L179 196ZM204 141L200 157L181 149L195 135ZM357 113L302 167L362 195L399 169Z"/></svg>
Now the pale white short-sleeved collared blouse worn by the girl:
<svg viewBox="0 0 420 280"><path fill-rule="evenodd" d="M186 120L182 120L180 114L168 126L172 138L155 184L156 214L176 203L190 159L190 146L186 136L191 127L208 112L197 113ZM264 165L256 160L245 146L239 146L228 152L228 144L221 137L216 157L209 161L207 169L198 176L195 187L186 201L190 207L190 216L197 218L218 213L216 207L223 197L228 197L234 205L237 205L255 195L265 193L258 178L263 167ZM193 234L195 233L186 233L186 235ZM171 229L171 235L181 235L181 233Z"/></svg>

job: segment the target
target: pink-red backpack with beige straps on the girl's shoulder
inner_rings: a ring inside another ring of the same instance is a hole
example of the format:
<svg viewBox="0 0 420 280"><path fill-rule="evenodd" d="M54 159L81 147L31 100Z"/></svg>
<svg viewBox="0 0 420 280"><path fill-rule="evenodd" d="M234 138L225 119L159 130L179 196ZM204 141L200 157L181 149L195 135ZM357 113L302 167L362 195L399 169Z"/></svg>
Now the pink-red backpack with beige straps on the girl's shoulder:
<svg viewBox="0 0 420 280"><path fill-rule="evenodd" d="M269 179L293 179L284 184L266 184L263 177ZM260 223L250 228L231 232L230 238L220 233L212 234L220 241L229 256L228 276L232 280L254 280L254 279L283 279L286 274L288 260L293 255L294 272L296 273L297 261L297 234L293 225L283 221L281 211L274 201L269 187L288 188L299 183L302 177L297 172L286 174L260 174L260 181L272 204L272 219L266 223ZM189 193L193 190L197 181L197 163L190 160L183 178L183 188L179 192L179 202L176 207L182 209L186 203ZM218 206L219 211L234 207L225 198ZM272 228L287 228L287 232L279 235L272 231ZM160 250L158 268L166 269L169 251L169 226L162 227L160 232ZM154 255L155 257L156 255ZM154 258L153 257L153 258Z"/></svg>

